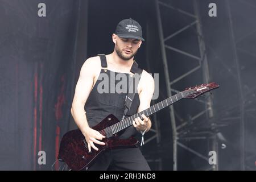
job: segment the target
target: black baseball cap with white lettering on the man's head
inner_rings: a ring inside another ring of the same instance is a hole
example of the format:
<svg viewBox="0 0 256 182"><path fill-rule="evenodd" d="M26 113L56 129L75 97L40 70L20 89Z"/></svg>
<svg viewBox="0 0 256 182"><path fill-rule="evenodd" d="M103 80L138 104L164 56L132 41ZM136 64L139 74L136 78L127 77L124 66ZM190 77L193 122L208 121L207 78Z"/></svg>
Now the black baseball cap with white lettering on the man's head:
<svg viewBox="0 0 256 182"><path fill-rule="evenodd" d="M121 20L121 22L117 24L115 34L119 36L119 38L138 39L144 41L142 38L141 26L131 18Z"/></svg>

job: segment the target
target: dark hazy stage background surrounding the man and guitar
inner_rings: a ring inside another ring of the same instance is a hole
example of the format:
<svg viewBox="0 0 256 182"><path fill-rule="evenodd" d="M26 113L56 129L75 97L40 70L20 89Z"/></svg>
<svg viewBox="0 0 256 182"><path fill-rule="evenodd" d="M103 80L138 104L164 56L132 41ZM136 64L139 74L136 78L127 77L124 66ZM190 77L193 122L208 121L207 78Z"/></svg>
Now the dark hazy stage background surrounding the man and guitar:
<svg viewBox="0 0 256 182"><path fill-rule="evenodd" d="M141 24L146 42L135 60L146 71L159 73L159 98L152 104L167 98L157 2L164 37L176 32L166 40L176 48L166 52L170 81L207 60L209 81L220 84L212 95L200 98L212 99L210 117L207 111L197 114L205 109L198 101L174 105L176 125L185 123L177 135L177 169L256 169L255 1L0 0L1 170L51 170L61 137L76 129L70 109L81 66L88 57L113 51L112 34L122 19ZM216 17L208 15L212 2ZM39 3L46 4L45 17L38 16ZM185 16L194 13L200 27L191 24L195 17ZM205 44L203 56L198 40ZM203 58L195 61L197 57ZM204 68L174 81L172 94L204 83ZM146 134L142 152L151 169L172 170L170 109L151 119L154 131ZM208 163L212 144L217 146L217 167ZM38 164L39 151L46 152L46 164Z"/></svg>

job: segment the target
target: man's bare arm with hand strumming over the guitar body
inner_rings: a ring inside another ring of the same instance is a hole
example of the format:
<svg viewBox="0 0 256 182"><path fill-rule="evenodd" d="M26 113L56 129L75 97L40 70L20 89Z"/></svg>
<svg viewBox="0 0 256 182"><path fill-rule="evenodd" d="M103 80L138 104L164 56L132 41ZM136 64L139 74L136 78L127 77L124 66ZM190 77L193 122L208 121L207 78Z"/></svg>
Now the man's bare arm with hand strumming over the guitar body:
<svg viewBox="0 0 256 182"><path fill-rule="evenodd" d="M95 150L98 150L98 148L94 146L94 143L105 144L99 141L105 137L101 135L98 131L90 129L84 111L84 105L93 87L93 79L95 76L94 72L95 60L93 58L90 58L85 61L84 65L82 65L79 80L76 84L75 96L73 98L71 108L71 114L76 122L76 125L85 136L86 142L88 143L89 151L91 146Z"/></svg>

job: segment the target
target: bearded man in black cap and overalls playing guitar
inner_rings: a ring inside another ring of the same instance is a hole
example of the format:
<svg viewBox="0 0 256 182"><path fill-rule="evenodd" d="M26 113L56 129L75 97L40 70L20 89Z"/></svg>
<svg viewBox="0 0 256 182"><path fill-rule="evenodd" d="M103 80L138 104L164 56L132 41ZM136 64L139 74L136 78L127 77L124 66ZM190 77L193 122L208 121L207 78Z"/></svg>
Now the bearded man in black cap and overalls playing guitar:
<svg viewBox="0 0 256 182"><path fill-rule="evenodd" d="M111 74L118 73L123 73L127 77L133 76L131 68L137 65L134 55L144 41L142 28L135 20L124 19L118 23L112 40L115 44L112 53L106 57L90 57L82 65L73 98L71 113L85 136L89 151L98 150L95 144L105 144L101 142L105 136L91 127L97 125L109 114L114 114L121 121L127 95L127 93L99 93L101 80L98 78L104 73L109 77ZM154 79L144 70L138 83L137 92L126 117L150 107L154 93ZM150 130L150 119L145 115L142 117L143 120L141 118L134 119L133 126L126 129L120 138L126 139L137 132L143 133ZM150 167L139 148L125 148L105 151L89 170L150 170Z"/></svg>

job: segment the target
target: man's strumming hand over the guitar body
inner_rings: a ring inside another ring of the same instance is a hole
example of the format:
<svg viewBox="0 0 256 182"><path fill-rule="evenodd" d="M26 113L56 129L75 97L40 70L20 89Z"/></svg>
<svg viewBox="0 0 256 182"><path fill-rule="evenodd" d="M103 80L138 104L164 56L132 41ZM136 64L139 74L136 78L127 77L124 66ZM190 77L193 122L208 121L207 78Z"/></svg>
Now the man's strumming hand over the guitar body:
<svg viewBox="0 0 256 182"><path fill-rule="evenodd" d="M91 129L90 127L87 127L84 131L82 131L82 134L84 135L86 142L88 144L89 152L91 150L91 147L94 148L94 150L98 151L98 148L94 145L94 143L100 144L102 146L105 145L104 142L100 142L99 140L102 140L103 138L106 137L100 134L100 132Z"/></svg>

